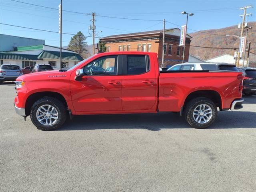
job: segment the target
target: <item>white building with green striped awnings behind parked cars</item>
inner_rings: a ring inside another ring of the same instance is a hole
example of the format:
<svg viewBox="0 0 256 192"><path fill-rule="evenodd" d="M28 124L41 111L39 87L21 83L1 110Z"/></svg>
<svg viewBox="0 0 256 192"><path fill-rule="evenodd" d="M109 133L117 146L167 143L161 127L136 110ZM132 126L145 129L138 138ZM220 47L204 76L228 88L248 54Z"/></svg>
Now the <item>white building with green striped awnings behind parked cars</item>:
<svg viewBox="0 0 256 192"><path fill-rule="evenodd" d="M2 64L15 64L21 68L35 64L50 64L60 69L60 48L49 45L34 45L17 47L16 51L0 52ZM62 68L68 69L82 61L76 52L62 49Z"/></svg>

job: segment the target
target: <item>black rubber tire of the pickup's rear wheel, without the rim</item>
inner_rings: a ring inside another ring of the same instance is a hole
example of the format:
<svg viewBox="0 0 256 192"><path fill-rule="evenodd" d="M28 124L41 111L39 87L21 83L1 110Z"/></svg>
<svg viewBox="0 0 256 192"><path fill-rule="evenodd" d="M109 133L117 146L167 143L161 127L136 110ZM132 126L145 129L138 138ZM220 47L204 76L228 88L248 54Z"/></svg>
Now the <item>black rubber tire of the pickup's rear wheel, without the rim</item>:
<svg viewBox="0 0 256 192"><path fill-rule="evenodd" d="M210 118L210 120L208 122L205 123L199 123L194 119L194 110L200 105L200 104L206 104L208 105L211 110L212 110L212 116ZM202 128L206 128L208 126L210 126L217 117L217 107L215 105L215 103L205 97L198 97L198 98L194 98L191 101L189 101L184 109L184 116L186 121L188 122L188 124L190 124L190 126L192 126L193 128L197 128L197 129L202 129Z"/></svg>

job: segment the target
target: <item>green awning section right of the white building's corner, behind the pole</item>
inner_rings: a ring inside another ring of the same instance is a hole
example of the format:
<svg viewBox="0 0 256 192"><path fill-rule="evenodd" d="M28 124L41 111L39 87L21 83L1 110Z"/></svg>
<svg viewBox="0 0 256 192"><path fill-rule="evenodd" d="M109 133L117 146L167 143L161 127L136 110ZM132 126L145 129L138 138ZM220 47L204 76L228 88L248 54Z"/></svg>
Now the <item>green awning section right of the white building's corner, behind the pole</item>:
<svg viewBox="0 0 256 192"><path fill-rule="evenodd" d="M72 52L62 52L62 60L73 60L73 61L82 61L84 60L79 54ZM38 55L38 59L60 59L60 52L58 51L42 51Z"/></svg>

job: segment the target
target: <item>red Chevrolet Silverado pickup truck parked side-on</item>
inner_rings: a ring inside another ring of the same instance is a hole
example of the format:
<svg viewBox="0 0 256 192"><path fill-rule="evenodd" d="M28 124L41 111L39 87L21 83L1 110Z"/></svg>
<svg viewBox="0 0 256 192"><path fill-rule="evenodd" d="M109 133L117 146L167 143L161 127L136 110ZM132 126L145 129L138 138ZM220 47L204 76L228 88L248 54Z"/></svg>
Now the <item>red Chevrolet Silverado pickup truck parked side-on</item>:
<svg viewBox="0 0 256 192"><path fill-rule="evenodd" d="M41 130L86 114L178 112L194 128L210 126L219 110L242 108L242 72L159 71L152 52L105 52L67 71L16 80L15 110Z"/></svg>

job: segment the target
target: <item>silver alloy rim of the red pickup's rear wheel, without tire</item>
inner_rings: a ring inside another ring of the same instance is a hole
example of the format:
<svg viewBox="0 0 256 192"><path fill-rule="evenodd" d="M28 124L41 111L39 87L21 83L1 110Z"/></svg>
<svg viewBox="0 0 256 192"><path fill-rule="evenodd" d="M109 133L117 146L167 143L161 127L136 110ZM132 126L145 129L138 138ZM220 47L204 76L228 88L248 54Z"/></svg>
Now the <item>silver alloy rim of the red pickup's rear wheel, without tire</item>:
<svg viewBox="0 0 256 192"><path fill-rule="evenodd" d="M212 119L212 108L206 104L198 105L193 112L193 118L200 124L205 124Z"/></svg>

